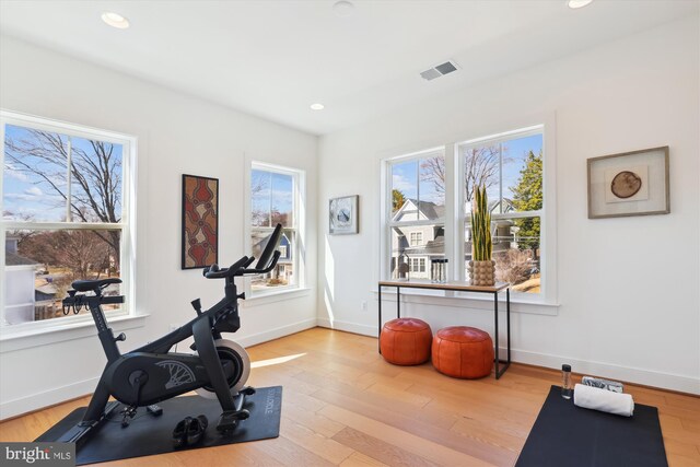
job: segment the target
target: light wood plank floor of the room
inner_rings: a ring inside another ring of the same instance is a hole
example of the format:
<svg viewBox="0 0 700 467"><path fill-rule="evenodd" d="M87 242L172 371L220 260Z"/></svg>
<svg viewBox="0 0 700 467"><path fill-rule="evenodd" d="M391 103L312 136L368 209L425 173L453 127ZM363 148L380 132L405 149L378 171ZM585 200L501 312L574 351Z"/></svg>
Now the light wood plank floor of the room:
<svg viewBox="0 0 700 467"><path fill-rule="evenodd" d="M125 466L512 466L559 372L513 364L495 381L394 366L374 338L315 328L248 349L249 384L283 386L280 437L112 463ZM578 378L576 378L578 380ZM628 385L658 407L668 462L700 466L700 398ZM31 441L88 398L0 424Z"/></svg>

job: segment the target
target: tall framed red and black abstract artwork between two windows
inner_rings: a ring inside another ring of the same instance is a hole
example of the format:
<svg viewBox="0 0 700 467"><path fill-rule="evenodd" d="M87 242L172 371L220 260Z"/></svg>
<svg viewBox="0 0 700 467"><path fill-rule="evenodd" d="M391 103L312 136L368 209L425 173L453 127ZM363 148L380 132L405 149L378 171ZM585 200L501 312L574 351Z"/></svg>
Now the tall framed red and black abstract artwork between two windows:
<svg viewBox="0 0 700 467"><path fill-rule="evenodd" d="M183 175L183 269L219 258L219 179Z"/></svg>

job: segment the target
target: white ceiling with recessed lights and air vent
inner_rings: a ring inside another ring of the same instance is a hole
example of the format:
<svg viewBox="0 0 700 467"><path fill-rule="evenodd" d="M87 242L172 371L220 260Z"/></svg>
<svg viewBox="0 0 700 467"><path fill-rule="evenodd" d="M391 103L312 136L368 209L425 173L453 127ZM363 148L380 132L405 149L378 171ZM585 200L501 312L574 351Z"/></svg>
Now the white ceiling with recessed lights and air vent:
<svg viewBox="0 0 700 467"><path fill-rule="evenodd" d="M698 0L10 1L0 32L315 135L697 14ZM129 30L106 26L104 11ZM419 72L447 59L456 73ZM326 109L314 112L319 102Z"/></svg>

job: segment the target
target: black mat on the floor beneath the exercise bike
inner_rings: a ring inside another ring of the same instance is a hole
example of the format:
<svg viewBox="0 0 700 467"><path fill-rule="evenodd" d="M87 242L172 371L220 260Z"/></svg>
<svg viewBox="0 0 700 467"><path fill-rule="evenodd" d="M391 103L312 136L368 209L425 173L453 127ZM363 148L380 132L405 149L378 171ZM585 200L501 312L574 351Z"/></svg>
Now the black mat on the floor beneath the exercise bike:
<svg viewBox="0 0 700 467"><path fill-rule="evenodd" d="M238 422L231 434L217 431L221 406L217 399L199 396L176 397L159 404L163 415L153 417L145 408L139 408L137 416L127 428L121 428L121 416L115 413L103 423L78 452L75 464L95 464L129 457L150 456L174 451L196 450L266 440L280 435L280 415L282 410L282 386L257 388L253 396L246 397L244 408L250 411L250 418ZM56 441L66 430L78 423L85 407L73 410L35 441ZM118 410L118 409L117 409ZM173 447L172 434L178 421L185 417L205 415L209 427L201 441L195 446Z"/></svg>

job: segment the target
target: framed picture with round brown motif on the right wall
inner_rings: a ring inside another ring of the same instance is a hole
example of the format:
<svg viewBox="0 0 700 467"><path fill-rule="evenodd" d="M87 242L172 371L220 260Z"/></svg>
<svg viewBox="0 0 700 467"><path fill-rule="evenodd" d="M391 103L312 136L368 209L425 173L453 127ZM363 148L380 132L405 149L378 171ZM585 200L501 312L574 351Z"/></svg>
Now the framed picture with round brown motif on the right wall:
<svg viewBox="0 0 700 467"><path fill-rule="evenodd" d="M588 159L588 219L670 212L668 147Z"/></svg>

